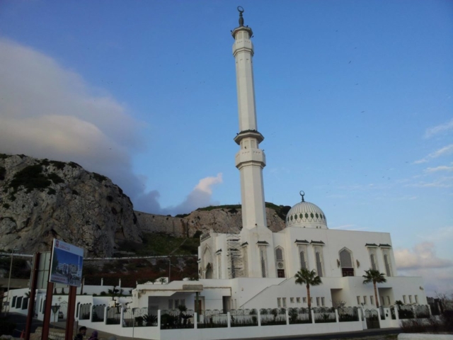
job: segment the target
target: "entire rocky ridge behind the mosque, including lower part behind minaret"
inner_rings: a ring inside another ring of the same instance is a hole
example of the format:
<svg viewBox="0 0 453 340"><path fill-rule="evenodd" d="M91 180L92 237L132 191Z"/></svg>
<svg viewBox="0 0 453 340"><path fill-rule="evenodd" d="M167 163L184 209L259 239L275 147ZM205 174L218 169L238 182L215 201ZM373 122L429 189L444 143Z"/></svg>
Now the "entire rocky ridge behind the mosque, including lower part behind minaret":
<svg viewBox="0 0 453 340"><path fill-rule="evenodd" d="M289 208L266 203L273 232L285 227ZM74 162L0 154L0 249L6 251L49 251L57 238L86 249L87 256L125 254L122 250L130 254L134 249L156 254L142 233L173 238L197 238L210 229L238 233L241 219L240 205L200 208L176 217L134 212L121 188ZM148 244L139 246L142 240ZM171 239L164 243L168 249L159 254L178 254L170 249Z"/></svg>

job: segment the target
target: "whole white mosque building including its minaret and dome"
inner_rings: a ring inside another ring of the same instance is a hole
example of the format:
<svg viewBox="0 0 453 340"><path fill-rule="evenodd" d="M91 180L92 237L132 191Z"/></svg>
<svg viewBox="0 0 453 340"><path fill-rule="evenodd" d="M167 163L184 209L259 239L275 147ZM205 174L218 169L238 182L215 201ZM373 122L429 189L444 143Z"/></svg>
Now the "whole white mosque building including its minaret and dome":
<svg viewBox="0 0 453 340"><path fill-rule="evenodd" d="M344 302L375 308L373 285L364 285L362 278L369 268L386 277L386 283L377 285L379 305L394 305L396 300L426 305L423 279L398 276L389 233L328 229L323 210L306 202L302 191L302 200L287 213L285 229L268 229L262 172L265 154L259 147L264 137L258 132L253 84L253 33L243 26L241 11L239 27L231 34L239 106L239 133L234 141L239 145L241 232L202 235L200 280L137 285L133 305L156 310L180 304L193 310L307 307L306 289L294 283L300 268L314 269L322 280L311 288L312 307Z"/></svg>

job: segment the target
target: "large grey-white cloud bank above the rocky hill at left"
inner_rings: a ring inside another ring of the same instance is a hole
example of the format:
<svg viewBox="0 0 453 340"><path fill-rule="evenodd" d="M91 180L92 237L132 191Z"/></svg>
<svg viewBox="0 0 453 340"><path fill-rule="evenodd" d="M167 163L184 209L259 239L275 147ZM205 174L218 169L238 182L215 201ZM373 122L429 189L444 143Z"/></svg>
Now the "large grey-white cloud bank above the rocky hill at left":
<svg viewBox="0 0 453 340"><path fill-rule="evenodd" d="M159 193L145 193L143 176L132 172L146 123L76 72L0 38L0 74L0 152L76 162L108 176L144 212L178 213L210 205L212 186L222 183L222 174L200 180L180 205L160 208Z"/></svg>

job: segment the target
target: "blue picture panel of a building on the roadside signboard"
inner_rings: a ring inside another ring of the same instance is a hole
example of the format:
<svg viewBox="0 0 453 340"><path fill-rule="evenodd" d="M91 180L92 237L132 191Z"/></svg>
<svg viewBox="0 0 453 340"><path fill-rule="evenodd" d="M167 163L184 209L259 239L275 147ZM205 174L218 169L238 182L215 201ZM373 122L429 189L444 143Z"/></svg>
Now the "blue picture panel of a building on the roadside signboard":
<svg viewBox="0 0 453 340"><path fill-rule="evenodd" d="M84 249L54 239L50 282L80 287L83 263Z"/></svg>

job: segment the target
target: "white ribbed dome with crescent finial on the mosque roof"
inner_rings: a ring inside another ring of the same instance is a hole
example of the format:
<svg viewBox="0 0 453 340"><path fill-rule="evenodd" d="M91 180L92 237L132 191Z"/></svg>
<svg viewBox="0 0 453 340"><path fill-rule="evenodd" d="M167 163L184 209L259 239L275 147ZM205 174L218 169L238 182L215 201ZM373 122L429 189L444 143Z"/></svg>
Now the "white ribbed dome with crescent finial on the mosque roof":
<svg viewBox="0 0 453 340"><path fill-rule="evenodd" d="M303 191L301 191L302 202L289 209L286 215L286 226L328 229L326 215L324 215L323 210L318 205L305 202L304 194L302 193Z"/></svg>

